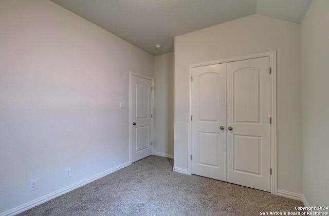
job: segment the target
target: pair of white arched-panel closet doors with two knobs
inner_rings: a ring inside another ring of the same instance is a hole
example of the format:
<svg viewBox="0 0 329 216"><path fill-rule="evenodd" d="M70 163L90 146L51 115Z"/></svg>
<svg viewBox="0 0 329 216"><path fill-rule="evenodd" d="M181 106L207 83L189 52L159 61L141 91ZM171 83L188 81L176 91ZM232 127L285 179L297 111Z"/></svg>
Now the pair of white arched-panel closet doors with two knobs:
<svg viewBox="0 0 329 216"><path fill-rule="evenodd" d="M192 174L270 191L269 64L192 69Z"/></svg>

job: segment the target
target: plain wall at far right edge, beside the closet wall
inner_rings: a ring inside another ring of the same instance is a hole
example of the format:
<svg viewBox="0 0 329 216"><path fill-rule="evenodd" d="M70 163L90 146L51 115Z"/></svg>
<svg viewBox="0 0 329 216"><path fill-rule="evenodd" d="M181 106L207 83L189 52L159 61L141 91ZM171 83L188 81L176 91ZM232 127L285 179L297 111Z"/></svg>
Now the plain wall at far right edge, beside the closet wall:
<svg viewBox="0 0 329 216"><path fill-rule="evenodd" d="M303 195L310 206L329 203L329 1L310 5L301 25Z"/></svg>

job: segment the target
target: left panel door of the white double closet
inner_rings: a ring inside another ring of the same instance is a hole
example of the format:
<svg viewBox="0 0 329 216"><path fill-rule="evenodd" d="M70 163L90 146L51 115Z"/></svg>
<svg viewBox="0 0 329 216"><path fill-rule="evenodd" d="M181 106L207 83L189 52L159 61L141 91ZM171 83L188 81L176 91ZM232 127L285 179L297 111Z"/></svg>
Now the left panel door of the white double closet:
<svg viewBox="0 0 329 216"><path fill-rule="evenodd" d="M192 76L191 171L226 181L225 64L193 68Z"/></svg>

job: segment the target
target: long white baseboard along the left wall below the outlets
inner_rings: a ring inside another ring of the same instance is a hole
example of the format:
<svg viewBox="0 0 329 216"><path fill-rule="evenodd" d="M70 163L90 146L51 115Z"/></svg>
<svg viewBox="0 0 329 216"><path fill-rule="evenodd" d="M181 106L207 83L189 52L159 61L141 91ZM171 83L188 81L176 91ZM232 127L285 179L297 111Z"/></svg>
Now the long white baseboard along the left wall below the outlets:
<svg viewBox="0 0 329 216"><path fill-rule="evenodd" d="M77 182L77 183L75 183L73 185L70 185L70 186L65 187L63 189L60 189L58 191L49 193L48 195L45 195L44 197L41 197L39 199L36 199L36 200L31 201L31 202L25 203L25 204L23 204L21 206L18 206L16 208L10 209L8 211L2 212L2 213L0 213L0 216L11 216L11 215L19 214L19 213L21 213L23 211L26 211L26 210L28 210L30 208L33 208L33 207L38 206L40 204L43 204L43 203L45 203L45 202L47 202L49 200L52 200L54 198L57 198L60 195L63 195L64 193L67 193L67 192L69 192L71 190L77 189L77 188L79 188L79 187L81 187L83 185L86 185L86 184L90 183L90 182L93 182L95 180L98 180L98 179L100 179L100 178L102 178L102 177L104 177L104 176L106 176L108 174L111 174L111 173L113 173L115 171L118 171L119 169L122 169L124 167L129 166L129 165L131 165L131 163L130 162L126 162L126 163L121 164L119 166L116 166L116 167L114 167L112 169L109 169L109 170L106 170L104 172L101 172L101 173L99 173L97 175L94 175L94 176L92 176L92 177L90 177L88 179L82 180L80 182Z"/></svg>

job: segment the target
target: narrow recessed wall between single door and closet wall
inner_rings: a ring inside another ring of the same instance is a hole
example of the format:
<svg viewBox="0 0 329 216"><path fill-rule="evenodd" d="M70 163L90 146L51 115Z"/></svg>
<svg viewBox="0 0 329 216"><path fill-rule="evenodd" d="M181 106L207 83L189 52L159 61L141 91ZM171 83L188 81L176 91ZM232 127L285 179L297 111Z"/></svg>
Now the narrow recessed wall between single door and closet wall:
<svg viewBox="0 0 329 216"><path fill-rule="evenodd" d="M174 156L174 53L154 57L154 154Z"/></svg>

